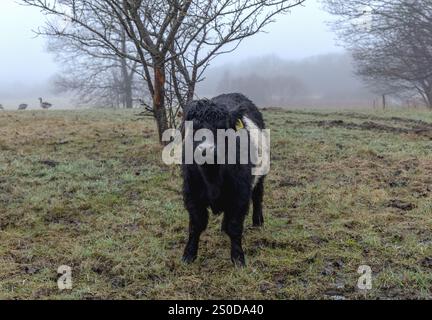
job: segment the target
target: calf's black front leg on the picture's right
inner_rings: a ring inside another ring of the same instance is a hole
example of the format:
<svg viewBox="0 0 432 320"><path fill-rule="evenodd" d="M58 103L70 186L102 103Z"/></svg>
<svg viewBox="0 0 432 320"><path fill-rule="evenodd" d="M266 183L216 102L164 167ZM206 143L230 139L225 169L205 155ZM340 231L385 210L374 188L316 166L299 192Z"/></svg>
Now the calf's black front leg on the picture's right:
<svg viewBox="0 0 432 320"><path fill-rule="evenodd" d="M246 260L242 248L243 226L248 206L241 209L229 210L224 216L224 231L231 239L231 261L240 267L246 266Z"/></svg>

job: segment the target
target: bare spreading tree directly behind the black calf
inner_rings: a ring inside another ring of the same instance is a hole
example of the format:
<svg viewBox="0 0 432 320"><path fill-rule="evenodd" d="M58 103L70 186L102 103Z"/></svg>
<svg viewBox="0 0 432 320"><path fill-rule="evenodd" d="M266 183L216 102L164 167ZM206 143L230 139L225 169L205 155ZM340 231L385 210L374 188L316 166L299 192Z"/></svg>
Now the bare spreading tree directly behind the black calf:
<svg viewBox="0 0 432 320"><path fill-rule="evenodd" d="M22 0L47 15L70 20L84 28L74 33L48 22L42 34L79 39L139 63L152 97L159 139L168 128L167 88L182 106L193 98L210 61L233 51L278 14L305 0ZM134 44L124 52L118 26Z"/></svg>

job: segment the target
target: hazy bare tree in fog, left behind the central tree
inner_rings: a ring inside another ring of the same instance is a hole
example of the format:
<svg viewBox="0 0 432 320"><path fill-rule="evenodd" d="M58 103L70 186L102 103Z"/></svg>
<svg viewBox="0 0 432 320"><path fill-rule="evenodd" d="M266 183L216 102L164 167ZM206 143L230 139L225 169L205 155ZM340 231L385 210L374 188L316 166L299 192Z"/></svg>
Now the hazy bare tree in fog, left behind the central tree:
<svg viewBox="0 0 432 320"><path fill-rule="evenodd" d="M126 37L119 47L126 51ZM137 77L137 62L109 54L103 47L82 46L76 39L51 37L48 50L54 53L62 72L54 78L58 92L72 92L80 104L131 109L145 90Z"/></svg>

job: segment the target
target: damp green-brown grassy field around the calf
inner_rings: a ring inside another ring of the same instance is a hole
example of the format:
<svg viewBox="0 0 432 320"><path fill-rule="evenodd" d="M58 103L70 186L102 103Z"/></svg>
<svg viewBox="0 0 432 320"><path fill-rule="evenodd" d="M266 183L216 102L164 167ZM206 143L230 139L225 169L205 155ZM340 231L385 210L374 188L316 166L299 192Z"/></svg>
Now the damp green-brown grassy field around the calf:
<svg viewBox="0 0 432 320"><path fill-rule="evenodd" d="M266 226L248 218L245 269L220 217L180 262L179 168L137 113L0 112L0 298L432 298L432 113L265 111Z"/></svg>

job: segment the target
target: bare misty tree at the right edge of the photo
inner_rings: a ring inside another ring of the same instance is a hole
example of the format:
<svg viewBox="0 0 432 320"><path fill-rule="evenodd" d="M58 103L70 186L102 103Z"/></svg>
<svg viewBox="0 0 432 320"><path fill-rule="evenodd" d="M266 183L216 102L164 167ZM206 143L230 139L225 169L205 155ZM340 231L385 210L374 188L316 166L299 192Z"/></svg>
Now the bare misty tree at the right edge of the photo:
<svg viewBox="0 0 432 320"><path fill-rule="evenodd" d="M432 2L327 0L357 73L380 94L419 94L432 108ZM378 90L377 90L378 89Z"/></svg>

